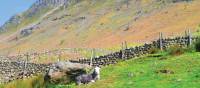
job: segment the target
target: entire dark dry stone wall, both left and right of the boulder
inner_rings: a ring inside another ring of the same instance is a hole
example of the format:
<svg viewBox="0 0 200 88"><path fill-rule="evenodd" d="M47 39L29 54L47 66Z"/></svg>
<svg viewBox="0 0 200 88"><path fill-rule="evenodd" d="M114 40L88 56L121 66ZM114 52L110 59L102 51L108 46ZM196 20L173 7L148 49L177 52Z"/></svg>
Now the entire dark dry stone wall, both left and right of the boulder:
<svg viewBox="0 0 200 88"><path fill-rule="evenodd" d="M149 54L152 48L167 49L170 46L178 45L187 47L190 41L195 42L198 38L177 37L168 39L159 39L149 44L132 47L120 50L118 52L110 53L104 56L98 56L92 59L70 60L73 63L89 64L92 61L92 66L106 66L115 64L119 61L128 60ZM26 60L2 60L0 62L0 82L7 83L15 79L23 79L39 73L45 74L51 64L35 64L28 63Z"/></svg>

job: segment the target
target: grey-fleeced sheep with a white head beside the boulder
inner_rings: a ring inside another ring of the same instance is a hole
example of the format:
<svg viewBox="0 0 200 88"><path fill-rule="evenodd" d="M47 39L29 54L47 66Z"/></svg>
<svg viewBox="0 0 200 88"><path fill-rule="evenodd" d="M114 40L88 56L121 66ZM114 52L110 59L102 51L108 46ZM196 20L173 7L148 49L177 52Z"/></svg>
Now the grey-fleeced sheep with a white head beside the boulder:
<svg viewBox="0 0 200 88"><path fill-rule="evenodd" d="M82 74L75 78L77 85L80 85L81 83L88 84L90 82L95 82L96 80L99 80L99 79L100 79L99 67L95 67L94 71L90 74Z"/></svg>

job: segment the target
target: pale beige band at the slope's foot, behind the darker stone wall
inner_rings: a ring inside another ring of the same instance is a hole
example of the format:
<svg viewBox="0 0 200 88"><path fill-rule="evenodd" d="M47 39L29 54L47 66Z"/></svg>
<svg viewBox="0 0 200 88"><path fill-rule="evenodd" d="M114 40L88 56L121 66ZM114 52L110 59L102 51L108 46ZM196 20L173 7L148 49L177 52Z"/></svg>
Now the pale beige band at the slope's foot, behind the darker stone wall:
<svg viewBox="0 0 200 88"><path fill-rule="evenodd" d="M111 50L106 50L106 49L88 49L88 48L60 48L60 49L55 49L55 50L44 50L41 52L37 51L31 51L31 52L26 52L22 53L19 51L18 54L7 54L7 55L2 55L0 56L0 61L12 61L12 62L18 62L18 61L27 61L29 63L34 63L34 61L37 61L41 57L52 57L56 56L58 59L63 58L61 57L62 55L68 55L68 54L81 54L84 52L89 52L92 53L92 51L95 51L96 53L101 53L101 55L106 55L109 54L113 51ZM79 55L79 56L74 56L70 57L72 59L77 59L77 58L85 58L84 55Z"/></svg>

